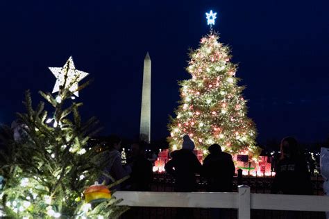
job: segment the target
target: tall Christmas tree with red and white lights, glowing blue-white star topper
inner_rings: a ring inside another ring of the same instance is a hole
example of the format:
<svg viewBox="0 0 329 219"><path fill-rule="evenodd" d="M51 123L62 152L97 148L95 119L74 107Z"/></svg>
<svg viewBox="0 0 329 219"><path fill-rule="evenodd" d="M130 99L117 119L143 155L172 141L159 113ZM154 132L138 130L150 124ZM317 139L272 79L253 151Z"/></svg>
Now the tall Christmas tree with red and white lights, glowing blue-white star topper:
<svg viewBox="0 0 329 219"><path fill-rule="evenodd" d="M210 11L207 18L211 26L216 13ZM237 64L230 62L229 47L218 40L211 27L199 49L189 53L187 71L192 78L180 82L180 105L168 125L169 144L172 150L180 148L183 135L188 134L199 150L218 143L226 152L255 157L259 153L256 130L246 116L244 87L237 85Z"/></svg>

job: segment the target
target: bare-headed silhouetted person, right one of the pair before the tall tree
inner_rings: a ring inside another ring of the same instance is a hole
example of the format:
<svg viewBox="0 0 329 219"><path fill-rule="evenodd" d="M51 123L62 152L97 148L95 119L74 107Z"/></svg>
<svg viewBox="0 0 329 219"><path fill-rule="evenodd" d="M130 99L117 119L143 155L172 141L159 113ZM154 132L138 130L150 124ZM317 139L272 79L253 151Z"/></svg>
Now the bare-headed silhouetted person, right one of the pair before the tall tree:
<svg viewBox="0 0 329 219"><path fill-rule="evenodd" d="M207 179L207 191L231 192L235 166L232 156L221 151L217 143L208 148L210 155L203 161L203 176Z"/></svg>

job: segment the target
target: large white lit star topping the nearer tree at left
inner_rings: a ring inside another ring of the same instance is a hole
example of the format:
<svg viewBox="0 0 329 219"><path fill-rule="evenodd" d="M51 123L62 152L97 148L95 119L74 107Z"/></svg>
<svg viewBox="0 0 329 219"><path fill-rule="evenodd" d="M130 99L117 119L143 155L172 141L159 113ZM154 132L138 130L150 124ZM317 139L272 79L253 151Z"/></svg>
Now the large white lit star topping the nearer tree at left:
<svg viewBox="0 0 329 219"><path fill-rule="evenodd" d="M60 91L60 86L65 86L69 89L75 96L78 94L78 82L83 80L89 73L85 71L76 70L74 67L74 62L72 57L69 57L69 60L64 64L64 67L49 67L49 70L57 78L56 84L53 87L53 93ZM66 82L65 82L66 78Z"/></svg>

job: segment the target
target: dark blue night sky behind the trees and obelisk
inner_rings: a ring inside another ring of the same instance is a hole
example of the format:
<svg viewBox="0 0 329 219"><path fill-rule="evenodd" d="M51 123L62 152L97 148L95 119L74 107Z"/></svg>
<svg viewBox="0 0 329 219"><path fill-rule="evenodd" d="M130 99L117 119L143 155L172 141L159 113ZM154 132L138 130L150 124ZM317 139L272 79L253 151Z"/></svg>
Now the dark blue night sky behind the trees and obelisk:
<svg viewBox="0 0 329 219"><path fill-rule="evenodd" d="M24 111L24 91L52 91L47 67L73 55L94 83L81 91L85 119L105 130L139 132L142 68L152 60L152 139L167 136L177 106L177 80L187 51L209 31L205 12L217 12L215 30L233 49L237 77L246 85L248 116L260 142L285 135L301 141L329 134L329 1L0 1L0 123Z"/></svg>

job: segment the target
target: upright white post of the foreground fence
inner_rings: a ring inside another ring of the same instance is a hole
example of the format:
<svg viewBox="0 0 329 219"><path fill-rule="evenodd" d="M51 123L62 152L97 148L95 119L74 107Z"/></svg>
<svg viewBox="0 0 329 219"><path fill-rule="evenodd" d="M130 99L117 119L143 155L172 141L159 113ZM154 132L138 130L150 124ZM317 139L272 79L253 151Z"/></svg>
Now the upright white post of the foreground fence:
<svg viewBox="0 0 329 219"><path fill-rule="evenodd" d="M238 219L250 219L250 207L251 207L251 195L249 186L239 186L238 187L239 198L238 198L238 209L237 218Z"/></svg>

